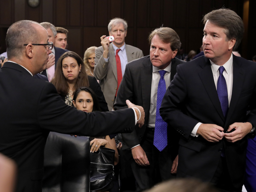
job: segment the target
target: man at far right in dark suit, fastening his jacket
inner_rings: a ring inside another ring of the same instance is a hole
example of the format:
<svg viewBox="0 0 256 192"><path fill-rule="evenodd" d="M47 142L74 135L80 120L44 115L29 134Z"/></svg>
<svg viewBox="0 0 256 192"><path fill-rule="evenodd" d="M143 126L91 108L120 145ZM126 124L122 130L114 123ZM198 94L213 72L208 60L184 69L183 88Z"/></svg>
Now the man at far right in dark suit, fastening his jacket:
<svg viewBox="0 0 256 192"><path fill-rule="evenodd" d="M177 67L160 114L181 135L178 177L241 192L247 138L255 136L256 65L232 54L244 33L234 11L211 11L203 22L204 56Z"/></svg>

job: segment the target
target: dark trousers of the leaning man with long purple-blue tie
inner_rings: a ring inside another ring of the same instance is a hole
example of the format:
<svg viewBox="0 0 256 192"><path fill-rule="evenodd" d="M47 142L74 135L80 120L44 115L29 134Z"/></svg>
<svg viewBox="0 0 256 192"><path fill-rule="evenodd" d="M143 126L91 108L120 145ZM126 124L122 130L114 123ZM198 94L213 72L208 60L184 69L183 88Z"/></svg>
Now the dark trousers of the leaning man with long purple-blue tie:
<svg viewBox="0 0 256 192"><path fill-rule="evenodd" d="M171 147L167 145L163 151L159 151L153 144L154 129L147 128L140 146L145 151L149 166L139 166L134 160L131 163L132 172L136 180L136 192L151 188L161 181L175 178L171 174L172 158Z"/></svg>

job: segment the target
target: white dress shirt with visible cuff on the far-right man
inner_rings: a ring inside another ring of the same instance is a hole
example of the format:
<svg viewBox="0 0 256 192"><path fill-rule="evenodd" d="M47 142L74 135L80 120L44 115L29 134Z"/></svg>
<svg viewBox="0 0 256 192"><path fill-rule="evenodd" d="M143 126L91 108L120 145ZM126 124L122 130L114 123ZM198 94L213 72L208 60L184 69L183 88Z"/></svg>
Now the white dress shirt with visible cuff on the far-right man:
<svg viewBox="0 0 256 192"><path fill-rule="evenodd" d="M219 78L219 65L216 65L213 63L211 60L211 70L212 70L212 75L215 83L215 87L217 90L217 83L218 83L218 78ZM226 84L227 84L227 96L229 100L229 105L230 105L230 100L232 96L232 89L233 89L233 54L231 54L230 59L222 65L225 68L225 71L223 71L223 76L226 79ZM197 129L202 123L197 123L196 126L193 128L193 131L191 132L191 136L197 137L196 135Z"/></svg>

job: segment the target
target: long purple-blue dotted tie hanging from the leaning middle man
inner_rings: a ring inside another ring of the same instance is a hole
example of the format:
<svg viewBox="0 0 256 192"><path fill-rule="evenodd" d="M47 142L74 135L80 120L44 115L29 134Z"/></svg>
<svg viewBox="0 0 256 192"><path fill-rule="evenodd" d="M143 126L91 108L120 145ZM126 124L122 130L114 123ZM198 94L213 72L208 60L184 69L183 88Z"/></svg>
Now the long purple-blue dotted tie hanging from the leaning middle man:
<svg viewBox="0 0 256 192"><path fill-rule="evenodd" d="M154 146L162 151L167 146L167 123L163 121L160 116L159 109L163 100L163 96L166 92L165 79L163 76L166 71L161 70L159 74L161 76L157 87L157 113L155 116L155 134L154 134Z"/></svg>

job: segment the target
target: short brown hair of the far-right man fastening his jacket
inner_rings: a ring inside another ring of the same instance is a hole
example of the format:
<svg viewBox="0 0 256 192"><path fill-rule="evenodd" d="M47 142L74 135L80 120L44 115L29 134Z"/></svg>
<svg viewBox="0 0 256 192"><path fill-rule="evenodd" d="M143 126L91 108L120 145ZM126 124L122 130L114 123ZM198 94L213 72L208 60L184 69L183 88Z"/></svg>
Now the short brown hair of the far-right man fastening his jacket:
<svg viewBox="0 0 256 192"><path fill-rule="evenodd" d="M206 24L207 20L224 29L224 33L227 36L226 41L233 38L236 39L236 44L234 45L233 50L238 48L244 35L244 23L236 12L230 9L213 10L204 15L203 23Z"/></svg>

